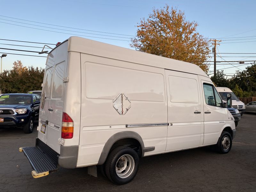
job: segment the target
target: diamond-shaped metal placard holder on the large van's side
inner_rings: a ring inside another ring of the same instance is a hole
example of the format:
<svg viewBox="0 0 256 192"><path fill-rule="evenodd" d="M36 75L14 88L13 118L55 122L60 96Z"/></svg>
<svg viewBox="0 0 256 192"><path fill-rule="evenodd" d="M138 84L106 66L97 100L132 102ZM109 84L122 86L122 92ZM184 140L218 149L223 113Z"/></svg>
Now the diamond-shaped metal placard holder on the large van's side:
<svg viewBox="0 0 256 192"><path fill-rule="evenodd" d="M131 108L131 101L124 93L120 93L113 100L113 107L120 115L124 115Z"/></svg>

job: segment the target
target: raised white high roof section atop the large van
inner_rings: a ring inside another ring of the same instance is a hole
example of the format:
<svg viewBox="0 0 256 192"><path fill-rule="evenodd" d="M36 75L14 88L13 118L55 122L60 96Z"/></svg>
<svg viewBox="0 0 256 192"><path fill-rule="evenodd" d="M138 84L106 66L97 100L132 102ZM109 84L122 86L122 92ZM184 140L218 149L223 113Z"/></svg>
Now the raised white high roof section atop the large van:
<svg viewBox="0 0 256 192"><path fill-rule="evenodd" d="M132 49L93 41L77 36L71 36L67 40L68 51L71 52L81 52L116 60L125 60L128 62L138 63L142 65L207 76L201 68L192 63L169 59L166 57L160 57L157 55L139 52Z"/></svg>

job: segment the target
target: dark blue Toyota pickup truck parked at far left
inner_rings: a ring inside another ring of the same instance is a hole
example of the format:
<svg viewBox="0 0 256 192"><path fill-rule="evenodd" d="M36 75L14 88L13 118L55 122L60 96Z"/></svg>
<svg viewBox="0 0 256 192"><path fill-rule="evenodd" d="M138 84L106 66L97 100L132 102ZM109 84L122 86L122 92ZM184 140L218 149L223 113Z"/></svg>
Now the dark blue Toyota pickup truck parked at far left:
<svg viewBox="0 0 256 192"><path fill-rule="evenodd" d="M24 133L33 131L38 120L40 96L26 93L10 93L0 96L0 128L20 127Z"/></svg>

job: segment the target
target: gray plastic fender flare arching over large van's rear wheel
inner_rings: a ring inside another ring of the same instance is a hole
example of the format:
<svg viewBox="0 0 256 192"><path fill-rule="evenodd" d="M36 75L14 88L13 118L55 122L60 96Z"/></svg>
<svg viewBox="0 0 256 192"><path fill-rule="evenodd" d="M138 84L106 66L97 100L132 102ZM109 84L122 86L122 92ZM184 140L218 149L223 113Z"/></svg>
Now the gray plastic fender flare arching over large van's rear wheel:
<svg viewBox="0 0 256 192"><path fill-rule="evenodd" d="M111 147L113 146L113 144L121 139L125 139L125 138L132 138L132 139L136 139L137 141L139 141L140 146L141 146L141 157L144 156L145 152L148 151L153 151L155 150L155 147L144 147L144 143L142 138L140 137L140 135L136 132L133 131L122 131L122 132L118 132L114 135L112 135L108 141L105 143L105 146L102 149L101 155L100 155L100 159L98 162L98 165L102 165L105 163L107 157L108 157L108 153L111 149Z"/></svg>

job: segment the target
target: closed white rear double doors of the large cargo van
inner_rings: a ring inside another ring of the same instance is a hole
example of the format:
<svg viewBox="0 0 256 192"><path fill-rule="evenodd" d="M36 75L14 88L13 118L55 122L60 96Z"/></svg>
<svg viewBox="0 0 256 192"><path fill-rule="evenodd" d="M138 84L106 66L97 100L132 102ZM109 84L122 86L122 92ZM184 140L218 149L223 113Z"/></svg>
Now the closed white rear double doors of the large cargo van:
<svg viewBox="0 0 256 192"><path fill-rule="evenodd" d="M59 154L67 60L68 42L48 54L38 123L38 138Z"/></svg>

